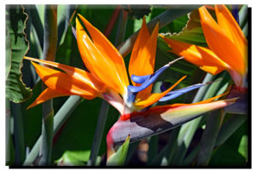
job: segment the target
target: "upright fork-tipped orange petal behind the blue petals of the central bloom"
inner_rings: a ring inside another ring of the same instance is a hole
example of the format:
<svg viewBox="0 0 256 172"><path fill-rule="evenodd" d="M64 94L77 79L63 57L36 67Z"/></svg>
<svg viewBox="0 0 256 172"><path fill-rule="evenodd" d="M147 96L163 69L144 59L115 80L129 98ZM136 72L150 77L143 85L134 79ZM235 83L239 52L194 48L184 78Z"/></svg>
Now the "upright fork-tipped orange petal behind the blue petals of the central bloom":
<svg viewBox="0 0 256 172"><path fill-rule="evenodd" d="M131 53L131 60L129 64L129 73L131 75L143 76L154 73L154 60L156 51L156 42L158 36L159 24L154 27L154 31L149 37L148 28L145 18L143 19L143 26L140 30L135 47ZM133 82L132 82L133 83ZM133 83L135 86L139 86L139 83ZM152 84L147 89L139 92L137 97L145 99L151 94Z"/></svg>

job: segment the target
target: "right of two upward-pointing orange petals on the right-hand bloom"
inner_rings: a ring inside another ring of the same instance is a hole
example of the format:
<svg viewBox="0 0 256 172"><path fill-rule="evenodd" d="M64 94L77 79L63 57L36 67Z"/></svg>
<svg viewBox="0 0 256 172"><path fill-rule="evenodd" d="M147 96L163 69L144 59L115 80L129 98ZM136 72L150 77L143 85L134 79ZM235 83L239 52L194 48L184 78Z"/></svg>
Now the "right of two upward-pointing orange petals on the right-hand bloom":
<svg viewBox="0 0 256 172"><path fill-rule="evenodd" d="M247 38L225 5L215 5L218 26L220 26L239 49L247 67Z"/></svg>

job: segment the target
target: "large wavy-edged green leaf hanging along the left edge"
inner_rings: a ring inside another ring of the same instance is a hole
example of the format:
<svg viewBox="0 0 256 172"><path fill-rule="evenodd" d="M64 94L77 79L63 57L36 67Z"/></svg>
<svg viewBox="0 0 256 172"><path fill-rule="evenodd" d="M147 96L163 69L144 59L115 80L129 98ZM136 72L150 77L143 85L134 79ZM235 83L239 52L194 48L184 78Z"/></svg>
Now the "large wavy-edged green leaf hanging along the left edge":
<svg viewBox="0 0 256 172"><path fill-rule="evenodd" d="M28 50L28 42L24 33L27 15L19 5L8 5L6 10L6 26L11 48L11 68L6 80L6 97L15 103L20 103L32 95L31 89L26 88L26 85L22 82L20 72L23 56Z"/></svg>

